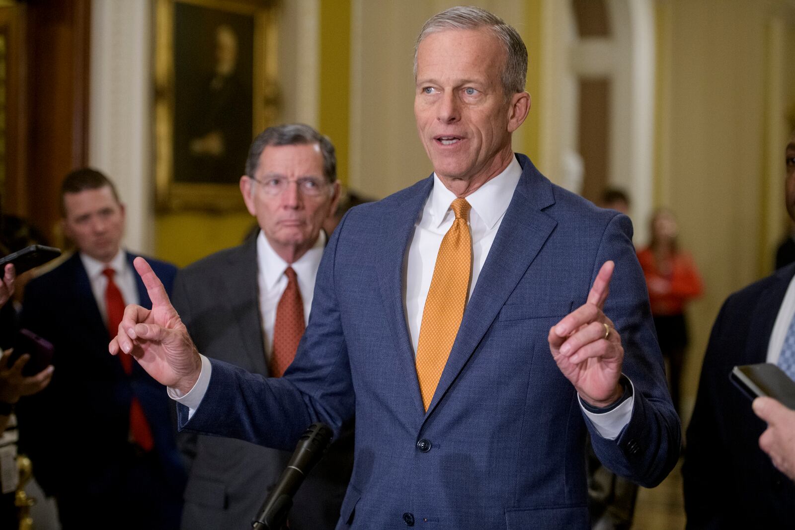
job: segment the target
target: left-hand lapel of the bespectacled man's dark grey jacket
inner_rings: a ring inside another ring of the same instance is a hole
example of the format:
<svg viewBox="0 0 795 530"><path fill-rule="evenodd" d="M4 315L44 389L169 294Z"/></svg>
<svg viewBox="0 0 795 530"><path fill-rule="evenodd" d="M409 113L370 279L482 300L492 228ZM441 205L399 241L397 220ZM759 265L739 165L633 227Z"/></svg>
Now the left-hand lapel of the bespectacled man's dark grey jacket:
<svg viewBox="0 0 795 530"><path fill-rule="evenodd" d="M257 273L257 238L250 238L238 253L230 254L227 270L223 274L224 292L218 295L235 315L235 323L251 362L250 366L267 376L269 370L265 362L265 342L262 338Z"/></svg>

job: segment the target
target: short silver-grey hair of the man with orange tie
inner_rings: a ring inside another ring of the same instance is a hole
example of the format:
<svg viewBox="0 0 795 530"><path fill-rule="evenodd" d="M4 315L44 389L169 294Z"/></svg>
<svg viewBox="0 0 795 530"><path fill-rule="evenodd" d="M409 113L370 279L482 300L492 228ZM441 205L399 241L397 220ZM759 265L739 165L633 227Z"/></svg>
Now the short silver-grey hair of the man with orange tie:
<svg viewBox="0 0 795 530"><path fill-rule="evenodd" d="M431 33L445 29L481 29L487 28L494 33L505 46L506 64L502 70L502 88L506 97L525 91L527 80L527 48L513 26L506 24L502 18L475 6L456 6L436 14L422 26L417 42L414 44L414 79L417 79L417 49L420 43Z"/></svg>

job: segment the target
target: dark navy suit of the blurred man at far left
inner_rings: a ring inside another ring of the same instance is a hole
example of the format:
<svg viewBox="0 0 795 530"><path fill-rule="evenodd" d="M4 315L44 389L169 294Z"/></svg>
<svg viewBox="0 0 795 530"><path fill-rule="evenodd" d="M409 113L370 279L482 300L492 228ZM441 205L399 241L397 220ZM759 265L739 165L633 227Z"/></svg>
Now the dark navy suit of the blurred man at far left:
<svg viewBox="0 0 795 530"><path fill-rule="evenodd" d="M132 267L134 256L127 254ZM176 268L149 260L167 291ZM151 307L134 273L140 303ZM56 495L64 529L176 528L184 467L165 387L133 363L127 376L110 341L83 262L76 253L25 288L22 326L55 346L52 383L21 400L21 449L37 481ZM129 443L130 400L138 397L154 449ZM152 499L151 506L145 505Z"/></svg>

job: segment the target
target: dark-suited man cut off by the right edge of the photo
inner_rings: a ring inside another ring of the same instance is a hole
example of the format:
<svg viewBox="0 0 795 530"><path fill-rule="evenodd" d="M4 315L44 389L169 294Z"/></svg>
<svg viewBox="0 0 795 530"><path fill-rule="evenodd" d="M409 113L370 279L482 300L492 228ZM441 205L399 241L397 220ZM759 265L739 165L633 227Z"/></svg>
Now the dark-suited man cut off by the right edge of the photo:
<svg viewBox="0 0 795 530"><path fill-rule="evenodd" d="M795 133L785 151L785 204L795 219ZM795 339L795 264L727 298L712 326L684 455L687 528L792 528L795 485L759 448L765 422L729 380L737 365L779 364ZM790 374L790 377L793 377Z"/></svg>

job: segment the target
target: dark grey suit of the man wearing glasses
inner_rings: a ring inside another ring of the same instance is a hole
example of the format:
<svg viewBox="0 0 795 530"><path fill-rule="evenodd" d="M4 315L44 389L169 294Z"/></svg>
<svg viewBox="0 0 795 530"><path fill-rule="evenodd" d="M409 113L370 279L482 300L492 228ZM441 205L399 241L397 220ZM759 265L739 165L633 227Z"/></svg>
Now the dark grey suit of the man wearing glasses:
<svg viewBox="0 0 795 530"><path fill-rule="evenodd" d="M203 354L268 375L256 237L182 269L174 284L173 304ZM184 452L192 465L182 527L250 526L292 451L230 438L185 436ZM334 528L352 463L353 433L348 429L301 486L290 513L292 530Z"/></svg>

